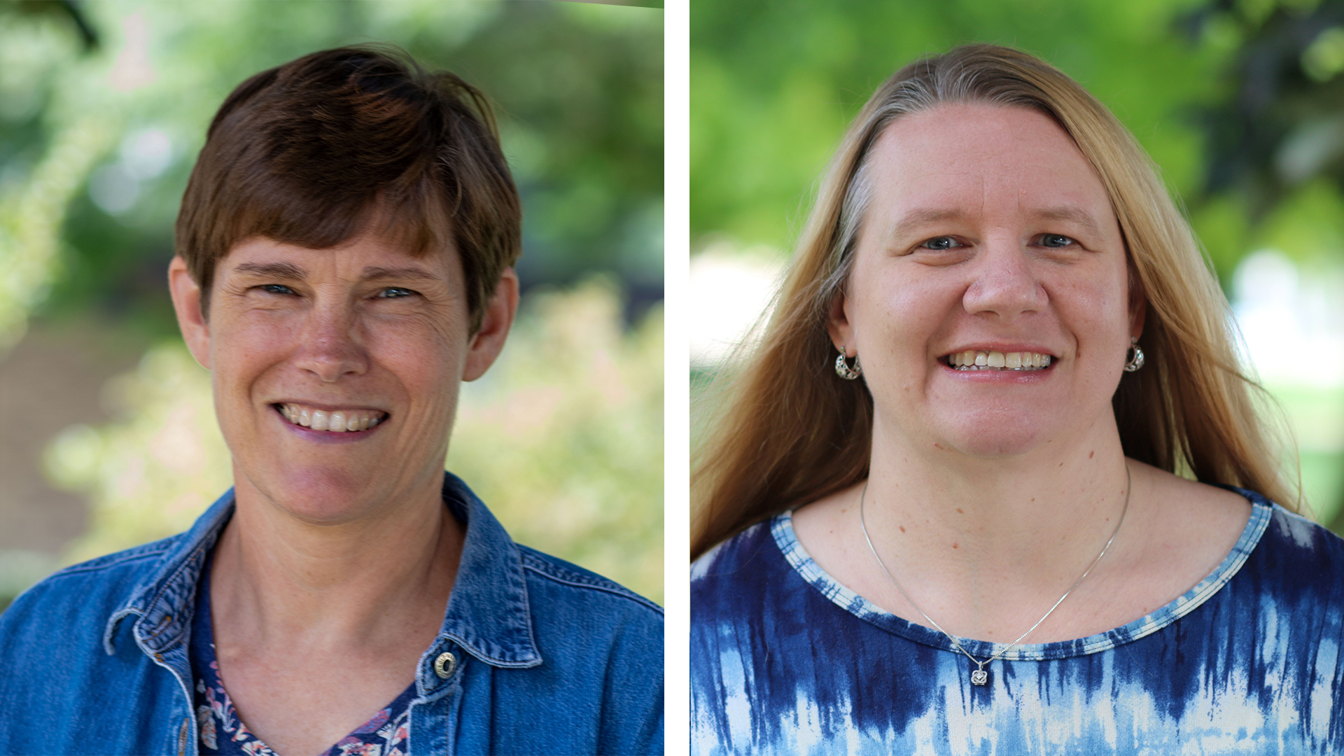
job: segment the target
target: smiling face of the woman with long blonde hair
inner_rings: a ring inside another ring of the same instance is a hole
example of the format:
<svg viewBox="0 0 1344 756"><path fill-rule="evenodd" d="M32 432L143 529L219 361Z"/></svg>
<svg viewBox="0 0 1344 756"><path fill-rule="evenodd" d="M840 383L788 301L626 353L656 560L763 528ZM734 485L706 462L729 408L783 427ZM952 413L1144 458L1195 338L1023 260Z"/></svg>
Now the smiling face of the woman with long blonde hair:
<svg viewBox="0 0 1344 756"><path fill-rule="evenodd" d="M887 126L868 175L828 326L862 359L875 432L1001 456L1113 422L1142 300L1068 135L1025 108L941 105Z"/></svg>

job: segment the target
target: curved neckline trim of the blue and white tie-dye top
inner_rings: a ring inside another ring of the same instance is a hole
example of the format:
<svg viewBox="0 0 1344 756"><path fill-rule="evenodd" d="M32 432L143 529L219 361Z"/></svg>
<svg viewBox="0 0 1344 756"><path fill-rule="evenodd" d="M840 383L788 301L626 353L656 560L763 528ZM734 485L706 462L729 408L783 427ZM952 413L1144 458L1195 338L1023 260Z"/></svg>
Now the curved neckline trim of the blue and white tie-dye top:
<svg viewBox="0 0 1344 756"><path fill-rule="evenodd" d="M1236 539L1236 543L1232 545L1232 549L1226 557L1223 557L1223 561L1219 562L1214 572L1195 584L1193 588L1181 593L1163 607L1159 607L1153 612L1149 612L1148 615L1144 615L1142 617L1121 627L1085 638L1075 638L1073 640L1021 644L999 658L1012 662L1039 662L1107 651L1110 648L1116 648L1117 646L1152 635L1193 612L1206 601L1212 599L1224 585L1227 585L1238 570L1241 570L1242 565L1246 564L1246 560L1250 558L1251 550L1255 549L1255 545L1259 543L1261 537L1269 527L1270 518L1274 513L1274 507L1277 506L1254 491L1232 487L1228 488L1250 500L1251 517L1242 529L1242 534ZM915 643L960 652L946 635L931 627L925 627L902 619L882 607L878 607L872 601L868 601L863 596L841 585L840 581L821 569L821 566L812 560L812 556L808 554L806 549L802 547L797 534L793 531L793 511L785 511L775 515L770 521L770 534L774 537L774 543L780 547L785 561L789 562L790 569L801 577L804 582L818 591L840 609L859 617L863 621L874 624L880 630L914 640ZM993 656L1009 646L1008 643L995 643L991 640L976 640L973 638L960 636L957 638L957 643L960 643L961 647L973 656Z"/></svg>

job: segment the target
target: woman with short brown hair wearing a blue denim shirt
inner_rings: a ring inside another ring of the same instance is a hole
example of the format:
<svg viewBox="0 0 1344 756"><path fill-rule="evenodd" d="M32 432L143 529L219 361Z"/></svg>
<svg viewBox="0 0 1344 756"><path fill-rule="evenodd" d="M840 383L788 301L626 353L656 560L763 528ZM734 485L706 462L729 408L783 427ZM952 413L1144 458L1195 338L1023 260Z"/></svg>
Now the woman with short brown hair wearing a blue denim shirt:
<svg viewBox="0 0 1344 756"><path fill-rule="evenodd" d="M520 222L452 74L356 47L234 90L168 270L234 487L0 616L0 753L661 753L661 608L444 471Z"/></svg>

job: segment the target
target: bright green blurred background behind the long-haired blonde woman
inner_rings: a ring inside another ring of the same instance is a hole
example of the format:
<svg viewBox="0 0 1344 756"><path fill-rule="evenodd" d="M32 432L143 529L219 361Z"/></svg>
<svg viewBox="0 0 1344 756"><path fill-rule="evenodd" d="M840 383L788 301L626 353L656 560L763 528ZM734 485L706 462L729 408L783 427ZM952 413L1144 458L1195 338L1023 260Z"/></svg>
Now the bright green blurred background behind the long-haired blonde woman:
<svg viewBox="0 0 1344 756"><path fill-rule="evenodd" d="M694 387L761 312L874 89L958 43L1009 44L1082 82L1159 163L1285 410L1312 510L1344 533L1344 1L691 8L691 296L706 304L691 315Z"/></svg>

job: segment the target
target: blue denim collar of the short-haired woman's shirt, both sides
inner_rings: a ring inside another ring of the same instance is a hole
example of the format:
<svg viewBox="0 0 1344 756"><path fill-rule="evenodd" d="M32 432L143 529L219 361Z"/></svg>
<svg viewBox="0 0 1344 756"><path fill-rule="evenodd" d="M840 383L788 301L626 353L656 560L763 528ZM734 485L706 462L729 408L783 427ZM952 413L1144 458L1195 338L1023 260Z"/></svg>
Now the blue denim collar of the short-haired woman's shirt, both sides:
<svg viewBox="0 0 1344 756"><path fill-rule="evenodd" d="M540 665L517 545L476 494L450 472L444 474L444 503L458 522L466 522L466 538L444 624L426 656L450 642L497 667ZM130 615L138 617L134 638L148 654L185 643L202 568L233 514L230 488L191 530L164 542L159 569L108 619L103 631L108 654L114 654L117 628Z"/></svg>

